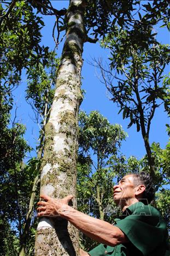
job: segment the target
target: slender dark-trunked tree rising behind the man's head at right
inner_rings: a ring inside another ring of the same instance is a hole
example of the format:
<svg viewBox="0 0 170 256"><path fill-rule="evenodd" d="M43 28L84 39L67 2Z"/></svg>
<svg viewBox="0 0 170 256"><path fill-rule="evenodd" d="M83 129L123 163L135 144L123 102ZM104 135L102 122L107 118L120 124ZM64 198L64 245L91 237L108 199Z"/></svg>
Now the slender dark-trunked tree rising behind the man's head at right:
<svg viewBox="0 0 170 256"><path fill-rule="evenodd" d="M164 104L169 113L169 84L163 74L170 60L169 45L156 43L153 39L146 48L145 44L128 41L128 34L126 30L117 30L104 39L102 46L109 48L111 53L110 69L101 62L98 65L112 101L120 108L119 113L122 111L123 118L130 119L128 127L136 124L137 131L142 132L150 173L155 180L149 134L155 110Z"/></svg>

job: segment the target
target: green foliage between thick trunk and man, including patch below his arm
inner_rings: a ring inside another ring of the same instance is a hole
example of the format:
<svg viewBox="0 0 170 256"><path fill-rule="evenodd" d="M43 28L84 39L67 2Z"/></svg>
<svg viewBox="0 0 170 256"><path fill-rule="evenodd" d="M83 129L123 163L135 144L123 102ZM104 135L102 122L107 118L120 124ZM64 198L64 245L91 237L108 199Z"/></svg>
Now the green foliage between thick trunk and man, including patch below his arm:
<svg viewBox="0 0 170 256"><path fill-rule="evenodd" d="M127 134L118 124L112 125L97 111L79 114L78 209L96 218L113 221L108 205L114 205L112 196L114 172L109 159L118 152ZM81 236L89 250L96 242Z"/></svg>

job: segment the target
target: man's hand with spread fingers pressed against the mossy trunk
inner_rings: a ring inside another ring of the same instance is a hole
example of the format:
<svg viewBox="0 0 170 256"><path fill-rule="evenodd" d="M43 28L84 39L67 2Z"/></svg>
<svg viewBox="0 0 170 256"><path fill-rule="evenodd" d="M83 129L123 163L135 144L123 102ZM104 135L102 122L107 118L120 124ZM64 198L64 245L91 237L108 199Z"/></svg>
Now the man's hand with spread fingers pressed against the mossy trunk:
<svg viewBox="0 0 170 256"><path fill-rule="evenodd" d="M40 201L37 203L37 216L49 216L49 217L57 217L60 216L58 213L59 209L67 209L69 201L73 199L72 195L69 195L63 199L55 199L45 195L40 196L40 198L44 199L44 201Z"/></svg>

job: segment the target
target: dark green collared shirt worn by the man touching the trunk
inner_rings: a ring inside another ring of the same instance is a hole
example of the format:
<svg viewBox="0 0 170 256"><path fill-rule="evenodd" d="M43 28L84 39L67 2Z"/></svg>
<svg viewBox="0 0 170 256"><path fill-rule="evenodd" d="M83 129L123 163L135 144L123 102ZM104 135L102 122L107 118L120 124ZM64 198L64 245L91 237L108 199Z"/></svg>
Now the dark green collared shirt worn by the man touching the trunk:
<svg viewBox="0 0 170 256"><path fill-rule="evenodd" d="M170 255L166 222L151 205L144 205L142 202L132 204L122 214L121 219L115 219L115 222L115 226L125 233L130 242L115 247L99 244L89 252L91 256Z"/></svg>

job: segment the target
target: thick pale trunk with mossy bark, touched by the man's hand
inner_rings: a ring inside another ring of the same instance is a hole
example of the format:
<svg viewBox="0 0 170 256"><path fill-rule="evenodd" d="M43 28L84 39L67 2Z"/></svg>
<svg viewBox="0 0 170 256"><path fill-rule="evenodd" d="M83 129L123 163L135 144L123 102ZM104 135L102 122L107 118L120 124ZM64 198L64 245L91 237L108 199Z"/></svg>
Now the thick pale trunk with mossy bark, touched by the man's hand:
<svg viewBox="0 0 170 256"><path fill-rule="evenodd" d="M84 42L84 3L70 1L67 34L42 159L40 193L63 198L76 197L78 111L82 100L81 58ZM73 207L76 208L75 201ZM79 255L78 231L63 219L41 218L37 227L35 255Z"/></svg>

